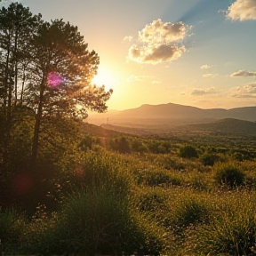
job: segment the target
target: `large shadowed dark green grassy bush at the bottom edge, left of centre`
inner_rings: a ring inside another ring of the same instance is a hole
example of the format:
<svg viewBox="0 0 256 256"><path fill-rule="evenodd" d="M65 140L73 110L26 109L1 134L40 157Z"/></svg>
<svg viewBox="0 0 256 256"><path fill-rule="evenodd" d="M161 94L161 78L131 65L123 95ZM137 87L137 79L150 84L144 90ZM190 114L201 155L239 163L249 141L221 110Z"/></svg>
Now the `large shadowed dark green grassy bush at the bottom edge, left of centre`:
<svg viewBox="0 0 256 256"><path fill-rule="evenodd" d="M130 255L141 248L160 252L166 241L164 230L131 207L128 198L95 188L69 196L54 228L41 232L34 246L42 254Z"/></svg>

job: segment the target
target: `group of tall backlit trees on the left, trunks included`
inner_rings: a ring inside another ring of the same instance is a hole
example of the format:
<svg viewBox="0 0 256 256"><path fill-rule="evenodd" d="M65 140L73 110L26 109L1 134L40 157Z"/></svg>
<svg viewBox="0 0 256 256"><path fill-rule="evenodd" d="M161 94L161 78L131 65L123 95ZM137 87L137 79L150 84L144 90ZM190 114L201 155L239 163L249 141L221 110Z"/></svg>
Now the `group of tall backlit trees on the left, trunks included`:
<svg viewBox="0 0 256 256"><path fill-rule="evenodd" d="M92 84L100 57L88 50L76 26L45 22L28 7L12 3L0 10L0 164L10 164L12 130L20 109L34 116L31 160L37 157L42 125L49 118L83 120L87 110L107 110L104 85ZM15 117L16 116L16 117ZM21 118L21 117L20 117ZM32 161L32 162L33 162ZM3 169L3 168L1 168Z"/></svg>

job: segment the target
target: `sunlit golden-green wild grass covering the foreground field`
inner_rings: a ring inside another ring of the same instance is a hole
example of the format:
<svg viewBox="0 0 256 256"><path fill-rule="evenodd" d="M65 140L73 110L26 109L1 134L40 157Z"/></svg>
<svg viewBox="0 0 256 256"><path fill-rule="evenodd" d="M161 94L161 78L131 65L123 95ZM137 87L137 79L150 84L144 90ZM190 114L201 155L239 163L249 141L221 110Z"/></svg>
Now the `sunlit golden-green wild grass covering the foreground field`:
<svg viewBox="0 0 256 256"><path fill-rule="evenodd" d="M177 150L121 155L94 145L77 151L54 173L55 211L44 205L33 216L1 210L6 252L250 255L256 164L225 151L212 166L202 161L204 148L197 152L187 159Z"/></svg>

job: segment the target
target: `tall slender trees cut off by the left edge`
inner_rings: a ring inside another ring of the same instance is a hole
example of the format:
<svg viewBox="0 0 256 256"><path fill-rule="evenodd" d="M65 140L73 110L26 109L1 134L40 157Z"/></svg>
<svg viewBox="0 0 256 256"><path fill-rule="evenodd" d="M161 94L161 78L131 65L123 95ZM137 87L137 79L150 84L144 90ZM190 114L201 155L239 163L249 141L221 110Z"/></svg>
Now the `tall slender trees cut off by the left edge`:
<svg viewBox="0 0 256 256"><path fill-rule="evenodd" d="M24 75L28 72L24 61L28 62L29 41L36 33L40 20L40 14L33 15L22 4L13 3L0 10L0 106L4 117L4 167L8 164L12 113L18 101L18 87L25 83Z"/></svg>

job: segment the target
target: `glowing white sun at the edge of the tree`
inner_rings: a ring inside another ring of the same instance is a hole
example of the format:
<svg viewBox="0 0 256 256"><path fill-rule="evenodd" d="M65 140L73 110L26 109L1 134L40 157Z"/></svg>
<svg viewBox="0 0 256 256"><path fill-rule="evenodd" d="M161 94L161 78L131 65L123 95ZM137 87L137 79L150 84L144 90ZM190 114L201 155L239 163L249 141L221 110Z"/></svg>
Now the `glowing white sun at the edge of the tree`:
<svg viewBox="0 0 256 256"><path fill-rule="evenodd" d="M105 85L107 90L113 89L116 84L116 76L108 69L99 69L97 75L92 78L92 84Z"/></svg>

